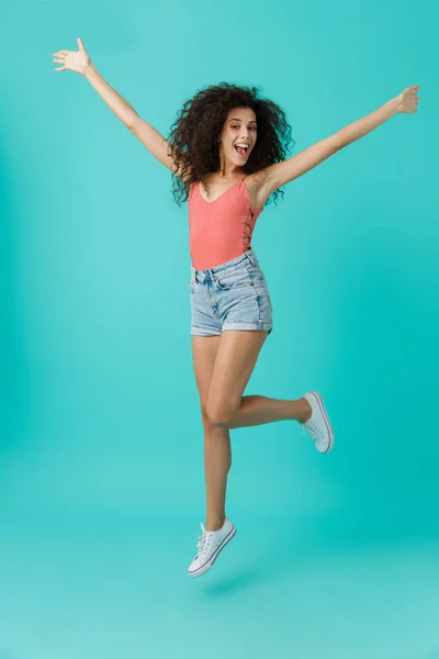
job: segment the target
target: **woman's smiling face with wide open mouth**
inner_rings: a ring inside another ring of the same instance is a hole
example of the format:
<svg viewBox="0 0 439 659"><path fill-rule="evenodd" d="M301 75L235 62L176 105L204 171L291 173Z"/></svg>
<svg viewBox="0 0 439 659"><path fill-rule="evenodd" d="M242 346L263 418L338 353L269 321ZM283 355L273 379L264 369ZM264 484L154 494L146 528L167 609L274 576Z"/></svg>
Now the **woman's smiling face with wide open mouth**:
<svg viewBox="0 0 439 659"><path fill-rule="evenodd" d="M219 163L223 171L243 167L256 144L256 114L250 108L235 108L227 114L219 142Z"/></svg>

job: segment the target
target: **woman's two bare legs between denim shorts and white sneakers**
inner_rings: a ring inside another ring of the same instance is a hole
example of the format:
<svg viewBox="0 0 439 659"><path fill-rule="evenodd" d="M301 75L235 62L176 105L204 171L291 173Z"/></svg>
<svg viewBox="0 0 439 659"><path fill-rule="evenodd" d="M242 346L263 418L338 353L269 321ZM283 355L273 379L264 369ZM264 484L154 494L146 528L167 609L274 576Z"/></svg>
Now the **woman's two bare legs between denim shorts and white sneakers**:
<svg viewBox="0 0 439 659"><path fill-rule="evenodd" d="M259 395L243 398L264 338L266 333L261 332L228 332L222 337L192 337L204 427L207 530L217 530L225 520L227 474L232 465L229 428L286 418L306 421L311 415L305 399L282 401Z"/></svg>

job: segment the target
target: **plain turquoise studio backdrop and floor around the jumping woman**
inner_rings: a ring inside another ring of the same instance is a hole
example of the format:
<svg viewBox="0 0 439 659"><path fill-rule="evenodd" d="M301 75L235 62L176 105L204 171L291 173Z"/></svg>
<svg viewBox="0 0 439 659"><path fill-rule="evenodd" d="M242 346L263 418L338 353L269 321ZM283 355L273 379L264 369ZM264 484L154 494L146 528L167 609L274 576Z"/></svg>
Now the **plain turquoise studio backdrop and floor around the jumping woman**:
<svg viewBox="0 0 439 659"><path fill-rule="evenodd" d="M0 10L1 659L439 657L438 85L432 1L23 1ZM274 308L247 393L326 400L232 431L238 533L204 520L187 206L52 53L168 134L205 85L258 85L299 153L409 85L285 188L254 248Z"/></svg>

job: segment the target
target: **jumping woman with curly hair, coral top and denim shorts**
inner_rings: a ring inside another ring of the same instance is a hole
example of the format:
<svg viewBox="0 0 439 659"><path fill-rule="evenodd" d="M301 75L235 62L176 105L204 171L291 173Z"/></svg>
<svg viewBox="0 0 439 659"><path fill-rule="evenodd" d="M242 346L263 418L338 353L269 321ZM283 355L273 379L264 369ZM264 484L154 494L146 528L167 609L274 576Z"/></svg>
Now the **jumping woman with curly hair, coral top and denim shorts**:
<svg viewBox="0 0 439 659"><path fill-rule="evenodd" d="M256 221L285 183L398 112L415 113L419 86L404 89L371 114L285 159L291 129L283 111L255 88L222 83L187 101L165 139L99 75L80 38L58 51L56 71L82 75L103 101L173 177L178 203L189 199L193 365L204 425L206 526L188 573L200 577L236 529L225 514L232 463L229 429L295 420L320 453L334 445L322 396L243 396L272 331L270 293L251 248ZM283 192L281 192L283 194Z"/></svg>

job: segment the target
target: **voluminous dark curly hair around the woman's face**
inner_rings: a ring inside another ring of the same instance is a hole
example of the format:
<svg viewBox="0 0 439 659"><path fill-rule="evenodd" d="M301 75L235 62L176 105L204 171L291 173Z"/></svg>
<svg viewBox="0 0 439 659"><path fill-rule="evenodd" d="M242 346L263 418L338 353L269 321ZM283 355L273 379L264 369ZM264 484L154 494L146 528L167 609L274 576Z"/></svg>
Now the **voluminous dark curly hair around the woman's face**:
<svg viewBox="0 0 439 659"><path fill-rule="evenodd" d="M192 183L204 183L210 174L219 170L218 139L234 108L250 108L258 123L255 148L243 167L246 175L284 160L294 147L285 113L270 99L259 98L259 88L221 82L201 89L179 110L167 138L169 155L179 172L172 172L172 193L178 205L187 201ZM283 196L283 190L275 190L274 201L279 192Z"/></svg>

